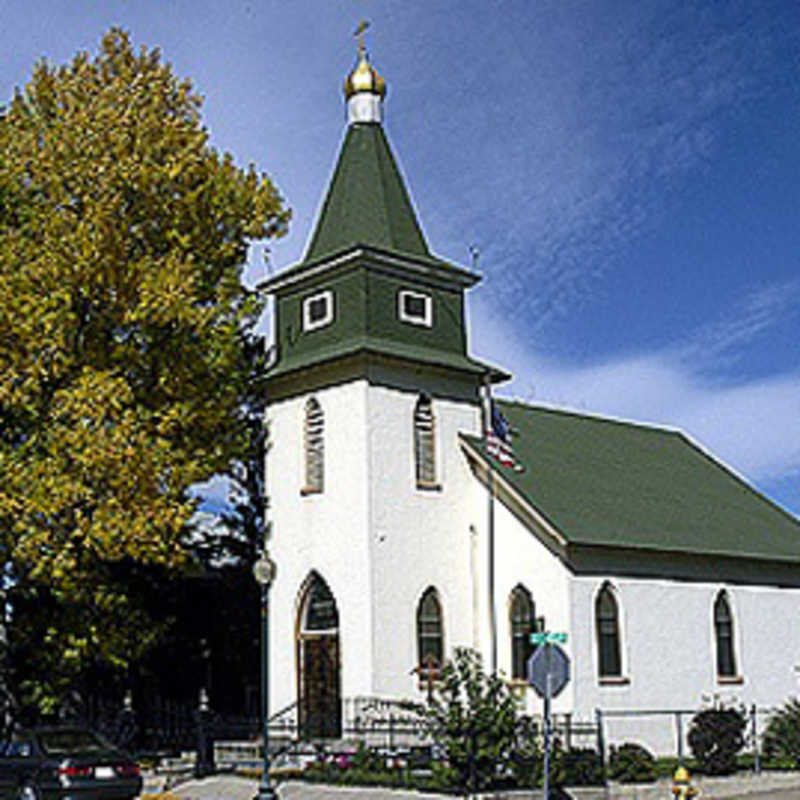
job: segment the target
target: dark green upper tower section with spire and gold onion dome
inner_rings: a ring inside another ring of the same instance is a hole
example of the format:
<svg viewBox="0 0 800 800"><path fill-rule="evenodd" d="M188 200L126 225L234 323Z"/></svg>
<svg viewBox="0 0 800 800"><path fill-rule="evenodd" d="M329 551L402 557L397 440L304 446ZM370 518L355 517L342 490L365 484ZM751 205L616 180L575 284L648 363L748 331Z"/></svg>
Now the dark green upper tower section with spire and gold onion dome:
<svg viewBox="0 0 800 800"><path fill-rule="evenodd" d="M276 301L270 391L367 375L477 402L485 380L508 377L467 352L464 292L480 277L428 250L363 48L345 86L347 132L305 256L259 286Z"/></svg>

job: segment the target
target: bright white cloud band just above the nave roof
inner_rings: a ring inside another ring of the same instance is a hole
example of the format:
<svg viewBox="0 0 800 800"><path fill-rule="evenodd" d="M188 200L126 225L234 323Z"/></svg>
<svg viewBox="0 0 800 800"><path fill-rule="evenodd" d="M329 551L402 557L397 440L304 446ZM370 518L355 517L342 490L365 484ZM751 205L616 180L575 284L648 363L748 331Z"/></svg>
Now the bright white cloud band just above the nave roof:
<svg viewBox="0 0 800 800"><path fill-rule="evenodd" d="M502 394L680 428L766 490L800 476L800 370L723 383L704 377L678 348L565 364L498 326L479 305L471 329L479 355L515 376Z"/></svg>

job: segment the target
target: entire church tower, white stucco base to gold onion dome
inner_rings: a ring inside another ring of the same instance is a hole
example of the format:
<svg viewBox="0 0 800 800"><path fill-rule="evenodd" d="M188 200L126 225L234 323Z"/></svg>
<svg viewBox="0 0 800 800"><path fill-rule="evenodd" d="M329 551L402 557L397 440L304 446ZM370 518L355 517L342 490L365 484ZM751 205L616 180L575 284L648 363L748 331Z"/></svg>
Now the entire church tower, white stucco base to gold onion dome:
<svg viewBox="0 0 800 800"><path fill-rule="evenodd" d="M462 632L455 622L455 609L471 606L472 482L457 435L479 432L480 387L507 377L467 352L464 295L479 277L428 248L363 33L306 253L260 287L275 300L277 353L267 383L278 565L270 705L296 701L310 733L315 714L329 717L342 698L410 695L418 606L432 590L452 614L442 646L471 635L471 623ZM312 613L319 598L328 610ZM321 653L333 659L325 669Z"/></svg>

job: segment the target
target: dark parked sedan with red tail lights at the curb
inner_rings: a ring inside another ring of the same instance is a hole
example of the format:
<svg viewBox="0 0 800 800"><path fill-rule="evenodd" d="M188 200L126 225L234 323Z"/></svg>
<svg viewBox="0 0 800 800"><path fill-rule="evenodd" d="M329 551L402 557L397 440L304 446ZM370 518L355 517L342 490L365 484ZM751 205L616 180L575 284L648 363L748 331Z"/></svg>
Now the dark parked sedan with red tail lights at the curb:
<svg viewBox="0 0 800 800"><path fill-rule="evenodd" d="M139 765L85 728L34 728L0 742L2 800L127 800Z"/></svg>

